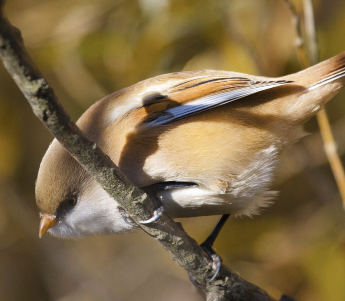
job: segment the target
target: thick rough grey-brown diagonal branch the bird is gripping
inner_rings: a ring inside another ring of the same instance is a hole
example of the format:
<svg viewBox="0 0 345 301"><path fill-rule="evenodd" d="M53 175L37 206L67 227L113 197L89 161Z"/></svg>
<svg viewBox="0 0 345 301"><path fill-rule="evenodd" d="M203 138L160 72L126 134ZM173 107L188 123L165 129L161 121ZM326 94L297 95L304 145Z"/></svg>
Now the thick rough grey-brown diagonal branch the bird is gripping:
<svg viewBox="0 0 345 301"><path fill-rule="evenodd" d="M27 53L20 31L4 14L0 0L0 57L37 118L71 156L84 167L119 203L134 221L146 220L155 210L149 196L134 186L99 147L87 139L60 104L52 87L44 79ZM158 221L138 224L154 237L185 270L203 283L213 274L212 260L167 214ZM265 291L222 266L218 276L204 286L207 300L272 301ZM280 300L292 300L282 297Z"/></svg>

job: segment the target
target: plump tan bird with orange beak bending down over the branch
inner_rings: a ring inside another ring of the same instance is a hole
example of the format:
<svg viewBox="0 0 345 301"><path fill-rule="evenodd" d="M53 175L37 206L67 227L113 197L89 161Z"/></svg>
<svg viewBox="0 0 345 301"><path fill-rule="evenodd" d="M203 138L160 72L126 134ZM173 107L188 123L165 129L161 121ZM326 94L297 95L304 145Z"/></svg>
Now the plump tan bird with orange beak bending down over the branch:
<svg viewBox="0 0 345 301"><path fill-rule="evenodd" d="M279 78L175 72L92 105L77 121L121 171L172 218L251 216L271 191L282 155L345 85L345 52ZM54 139L35 187L39 236L124 233L119 205Z"/></svg>

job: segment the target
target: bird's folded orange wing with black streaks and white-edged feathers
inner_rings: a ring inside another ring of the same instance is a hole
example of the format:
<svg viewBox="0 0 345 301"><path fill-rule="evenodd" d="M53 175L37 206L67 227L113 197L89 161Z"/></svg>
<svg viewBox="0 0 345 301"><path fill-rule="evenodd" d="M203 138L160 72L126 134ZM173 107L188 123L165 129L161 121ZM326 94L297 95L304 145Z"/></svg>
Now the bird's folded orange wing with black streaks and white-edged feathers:
<svg viewBox="0 0 345 301"><path fill-rule="evenodd" d="M146 125L168 124L259 91L291 82L288 80L255 81L245 77L226 76L194 77L144 100L143 107L147 112L154 112L153 115L148 114ZM152 107L150 108L150 106Z"/></svg>

